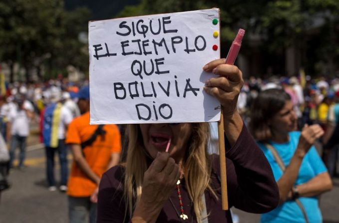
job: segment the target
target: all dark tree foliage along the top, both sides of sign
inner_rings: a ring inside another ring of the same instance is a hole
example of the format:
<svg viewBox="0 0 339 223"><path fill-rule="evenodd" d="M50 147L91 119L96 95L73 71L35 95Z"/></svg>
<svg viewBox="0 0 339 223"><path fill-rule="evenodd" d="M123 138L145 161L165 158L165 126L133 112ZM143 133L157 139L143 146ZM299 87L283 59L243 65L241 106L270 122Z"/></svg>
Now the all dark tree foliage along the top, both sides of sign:
<svg viewBox="0 0 339 223"><path fill-rule="evenodd" d="M277 70L283 69L283 55L290 46L300 51L301 66L308 73L339 70L335 62L339 59L339 0L141 0L116 16L211 7L221 11L222 55L236 31L245 28L242 53L251 58L260 52L262 72L275 64ZM68 65L86 72L88 48L78 35L87 32L90 16L87 8L65 10L63 0L1 0L0 62L10 68L19 64L27 81L33 71L43 79L65 72Z"/></svg>

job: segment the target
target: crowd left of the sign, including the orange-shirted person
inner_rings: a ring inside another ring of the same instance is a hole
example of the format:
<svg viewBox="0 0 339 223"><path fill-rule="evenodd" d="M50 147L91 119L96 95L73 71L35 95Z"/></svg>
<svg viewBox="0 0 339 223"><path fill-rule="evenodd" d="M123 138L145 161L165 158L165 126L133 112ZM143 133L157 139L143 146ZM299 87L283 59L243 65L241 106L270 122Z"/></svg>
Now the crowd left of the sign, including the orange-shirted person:
<svg viewBox="0 0 339 223"><path fill-rule="evenodd" d="M46 156L48 190L67 192L71 223L96 222L96 202L101 175L120 160L121 139L116 125L89 125L89 86L76 86L64 80L45 84L14 84L0 97L1 148L9 154L0 159L1 178L8 189L8 170L25 168L26 140L31 123L39 123L40 141ZM14 167L15 150L19 162ZM67 154L73 163L68 174ZM54 178L54 157L58 154L60 181ZM5 165L2 165L5 164ZM3 178L3 179L2 179ZM2 181L1 181L2 185Z"/></svg>

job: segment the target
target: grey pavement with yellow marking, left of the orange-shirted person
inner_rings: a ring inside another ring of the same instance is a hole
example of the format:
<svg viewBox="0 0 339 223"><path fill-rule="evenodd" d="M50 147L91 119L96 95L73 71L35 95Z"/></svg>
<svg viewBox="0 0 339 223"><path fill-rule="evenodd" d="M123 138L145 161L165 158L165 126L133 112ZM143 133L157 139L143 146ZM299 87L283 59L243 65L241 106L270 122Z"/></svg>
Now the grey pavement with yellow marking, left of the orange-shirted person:
<svg viewBox="0 0 339 223"><path fill-rule="evenodd" d="M67 223L66 194L47 190L44 149L28 150L24 164L10 170L11 188L1 194L0 223ZM55 164L58 182L57 159Z"/></svg>

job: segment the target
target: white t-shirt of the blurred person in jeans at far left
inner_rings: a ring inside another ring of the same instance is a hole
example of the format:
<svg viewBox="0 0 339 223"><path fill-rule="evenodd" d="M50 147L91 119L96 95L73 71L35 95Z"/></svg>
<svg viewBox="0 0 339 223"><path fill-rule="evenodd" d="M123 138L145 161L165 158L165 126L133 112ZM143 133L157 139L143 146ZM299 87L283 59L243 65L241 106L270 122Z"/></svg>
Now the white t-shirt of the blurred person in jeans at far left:
<svg viewBox="0 0 339 223"><path fill-rule="evenodd" d="M33 112L33 105L25 100L23 108ZM8 121L11 122L11 135L28 136L29 135L29 119L26 111L18 109L17 105L11 108L8 114Z"/></svg>

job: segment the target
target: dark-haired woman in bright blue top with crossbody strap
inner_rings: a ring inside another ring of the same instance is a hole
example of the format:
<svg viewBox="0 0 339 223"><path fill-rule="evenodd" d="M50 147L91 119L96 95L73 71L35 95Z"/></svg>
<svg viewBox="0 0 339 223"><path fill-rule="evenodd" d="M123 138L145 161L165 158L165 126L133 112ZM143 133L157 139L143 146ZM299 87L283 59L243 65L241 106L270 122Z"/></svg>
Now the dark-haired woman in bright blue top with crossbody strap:
<svg viewBox="0 0 339 223"><path fill-rule="evenodd" d="M290 95L268 89L253 103L250 129L272 167L280 194L280 205L263 214L261 222L321 223L317 196L332 189L331 178L313 146L324 134L322 128L305 125L302 132L295 131L297 116Z"/></svg>

